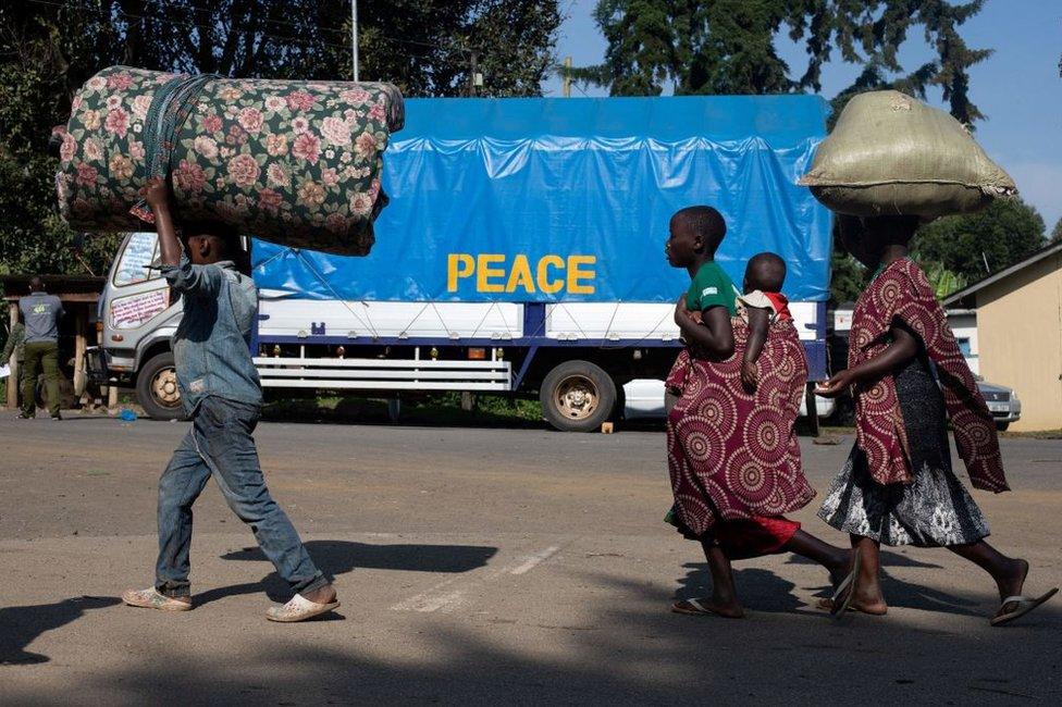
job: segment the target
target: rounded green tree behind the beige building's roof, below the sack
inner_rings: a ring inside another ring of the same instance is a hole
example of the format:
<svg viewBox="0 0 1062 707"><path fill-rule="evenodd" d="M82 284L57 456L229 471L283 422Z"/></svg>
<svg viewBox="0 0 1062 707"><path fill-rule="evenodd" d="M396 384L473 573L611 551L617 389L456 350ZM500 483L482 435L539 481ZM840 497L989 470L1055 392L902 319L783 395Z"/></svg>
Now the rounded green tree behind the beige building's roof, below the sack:
<svg viewBox="0 0 1062 707"><path fill-rule="evenodd" d="M918 230L913 256L976 282L1044 247L1044 219L1020 199L997 200L985 210L944 216ZM928 270L928 269L927 269Z"/></svg>

